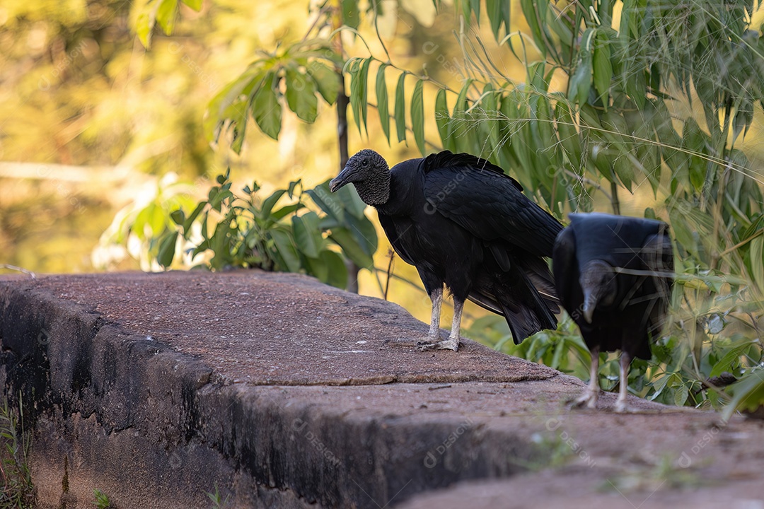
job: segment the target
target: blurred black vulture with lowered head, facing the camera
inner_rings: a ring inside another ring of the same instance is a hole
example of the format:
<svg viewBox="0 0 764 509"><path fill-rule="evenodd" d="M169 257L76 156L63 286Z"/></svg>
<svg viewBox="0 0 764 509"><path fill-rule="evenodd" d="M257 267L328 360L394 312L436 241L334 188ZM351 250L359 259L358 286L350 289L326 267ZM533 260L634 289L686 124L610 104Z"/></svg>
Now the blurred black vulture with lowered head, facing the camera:
<svg viewBox="0 0 764 509"><path fill-rule="evenodd" d="M615 410L627 411L631 359L650 358L673 284L669 226L610 214L570 214L555 241L552 270L562 305L591 351L589 385L575 405L597 407L599 353L620 350Z"/></svg>

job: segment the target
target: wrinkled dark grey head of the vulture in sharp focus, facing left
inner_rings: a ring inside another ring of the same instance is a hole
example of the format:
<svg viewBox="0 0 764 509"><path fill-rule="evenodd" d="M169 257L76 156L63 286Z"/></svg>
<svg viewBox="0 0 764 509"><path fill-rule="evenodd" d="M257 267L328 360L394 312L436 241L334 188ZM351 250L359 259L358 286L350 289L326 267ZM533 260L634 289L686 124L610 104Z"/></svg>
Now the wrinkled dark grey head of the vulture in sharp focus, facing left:
<svg viewBox="0 0 764 509"><path fill-rule="evenodd" d="M366 205L383 205L390 198L390 167L374 150L361 150L345 164L345 169L329 182L335 192L346 184L355 185L358 196Z"/></svg>

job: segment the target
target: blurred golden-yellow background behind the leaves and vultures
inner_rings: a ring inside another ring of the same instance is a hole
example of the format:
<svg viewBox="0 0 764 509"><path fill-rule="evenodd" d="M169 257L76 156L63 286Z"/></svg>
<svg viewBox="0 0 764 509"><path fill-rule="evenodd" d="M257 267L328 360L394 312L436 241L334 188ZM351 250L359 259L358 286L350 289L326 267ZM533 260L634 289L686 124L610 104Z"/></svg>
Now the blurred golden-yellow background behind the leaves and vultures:
<svg viewBox="0 0 764 509"><path fill-rule="evenodd" d="M464 64L454 9L436 12L431 0L384 1L382 7L378 28L393 63L460 88ZM303 37L312 21L308 2L215 0L199 13L182 7L173 34L155 31L150 50L132 28L140 8L141 2L105 0L4 0L0 6L0 264L35 272L139 269L128 252L99 246L99 238L118 211L151 201L172 182L186 182L184 195L197 201L227 167L238 188L255 180L263 196L295 179L312 188L338 173L335 110L323 103L316 124L284 114L278 141L250 121L241 155L226 143L212 147L202 132L209 100L258 50ZM518 5L512 22L513 30L524 29ZM471 35L481 37L503 74L525 79L525 68L497 47L490 29ZM343 40L348 57L370 51L384 57L367 18L360 36L345 33ZM393 87L397 75L387 79ZM565 88L565 82L555 85ZM439 146L435 92L425 90L433 150ZM351 153L371 147L391 166L419 156L413 142L388 146L374 108L369 115L368 136L351 121ZM757 167L758 120L746 137ZM623 214L641 214L652 200L652 193L622 198ZM374 211L367 214L378 227ZM376 265L387 269L389 243L379 228L378 234ZM394 272L421 288L416 271L400 259ZM379 278L384 283L386 276ZM377 277L367 271L360 290L381 295ZM393 279L388 298L429 321L429 298L410 283ZM466 312L482 314L474 307ZM445 313L443 323L450 318Z"/></svg>

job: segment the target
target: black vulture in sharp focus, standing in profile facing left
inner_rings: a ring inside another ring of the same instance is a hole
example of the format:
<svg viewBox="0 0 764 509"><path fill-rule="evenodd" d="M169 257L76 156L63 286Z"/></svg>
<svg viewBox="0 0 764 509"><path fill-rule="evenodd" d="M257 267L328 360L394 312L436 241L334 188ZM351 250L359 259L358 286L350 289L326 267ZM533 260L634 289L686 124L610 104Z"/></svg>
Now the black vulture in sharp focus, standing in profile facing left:
<svg viewBox="0 0 764 509"><path fill-rule="evenodd" d="M467 298L503 315L515 343L556 327L558 299L543 257L552 256L562 224L498 166L445 150L390 169L374 150L361 150L329 187L334 192L350 183L377 208L393 249L416 267L432 299L420 350L458 350ZM439 341L444 285L454 320L448 340Z"/></svg>

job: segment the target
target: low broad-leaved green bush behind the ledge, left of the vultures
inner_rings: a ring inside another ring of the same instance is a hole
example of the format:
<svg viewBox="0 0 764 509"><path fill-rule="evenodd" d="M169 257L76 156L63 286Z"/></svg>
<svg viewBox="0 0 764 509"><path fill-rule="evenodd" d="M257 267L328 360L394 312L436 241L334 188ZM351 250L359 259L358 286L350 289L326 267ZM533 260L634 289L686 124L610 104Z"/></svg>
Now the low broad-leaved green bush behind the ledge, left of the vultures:
<svg viewBox="0 0 764 509"><path fill-rule="evenodd" d="M172 266L180 246L189 255L186 266L196 265L198 255L210 253L202 263L212 270L257 267L303 272L338 288L348 284L346 260L372 268L377 233L353 189L332 193L324 182L303 192L297 180L261 200L257 182L244 186L239 195L231 191L230 172L215 182L208 198L188 215L183 208L172 209L176 227L163 225L162 233L152 237L151 248L156 250L151 256L160 266ZM318 213L307 210L304 195L312 198ZM280 205L282 198L292 202Z"/></svg>

